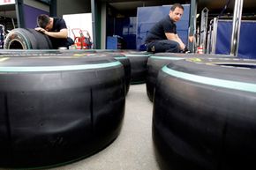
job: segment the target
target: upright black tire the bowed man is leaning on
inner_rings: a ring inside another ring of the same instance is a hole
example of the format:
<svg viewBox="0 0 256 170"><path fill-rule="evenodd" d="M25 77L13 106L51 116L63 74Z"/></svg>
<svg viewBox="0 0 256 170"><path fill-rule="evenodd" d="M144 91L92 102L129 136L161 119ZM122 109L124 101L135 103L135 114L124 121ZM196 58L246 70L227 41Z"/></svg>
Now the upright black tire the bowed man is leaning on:
<svg viewBox="0 0 256 170"><path fill-rule="evenodd" d="M8 33L4 49L52 49L49 37L34 29L16 28Z"/></svg>

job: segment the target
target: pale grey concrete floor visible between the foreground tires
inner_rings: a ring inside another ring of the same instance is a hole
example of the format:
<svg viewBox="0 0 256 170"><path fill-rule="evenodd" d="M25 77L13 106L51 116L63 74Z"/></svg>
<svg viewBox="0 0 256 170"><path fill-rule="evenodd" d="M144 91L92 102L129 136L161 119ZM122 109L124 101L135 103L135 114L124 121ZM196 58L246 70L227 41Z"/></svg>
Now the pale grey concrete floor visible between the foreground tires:
<svg viewBox="0 0 256 170"><path fill-rule="evenodd" d="M158 170L151 135L152 109L146 84L131 85L117 139L87 159L50 170Z"/></svg>

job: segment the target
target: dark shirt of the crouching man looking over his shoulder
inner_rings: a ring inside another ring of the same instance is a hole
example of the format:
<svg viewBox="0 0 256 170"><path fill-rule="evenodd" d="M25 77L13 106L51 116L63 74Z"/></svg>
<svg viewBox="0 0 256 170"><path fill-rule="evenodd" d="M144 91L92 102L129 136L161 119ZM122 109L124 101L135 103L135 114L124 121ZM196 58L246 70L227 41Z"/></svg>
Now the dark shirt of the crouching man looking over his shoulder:
<svg viewBox="0 0 256 170"><path fill-rule="evenodd" d="M147 33L146 43L156 40L167 40L165 33L177 34L176 24L169 15L157 22Z"/></svg>

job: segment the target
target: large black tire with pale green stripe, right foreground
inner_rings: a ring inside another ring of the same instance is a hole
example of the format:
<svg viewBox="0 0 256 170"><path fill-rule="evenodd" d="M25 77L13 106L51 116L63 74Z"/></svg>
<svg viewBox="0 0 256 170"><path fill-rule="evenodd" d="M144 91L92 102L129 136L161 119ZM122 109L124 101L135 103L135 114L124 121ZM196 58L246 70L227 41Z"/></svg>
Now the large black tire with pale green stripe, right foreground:
<svg viewBox="0 0 256 170"><path fill-rule="evenodd" d="M256 168L255 65L188 59L159 71L153 139L162 169Z"/></svg>

